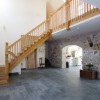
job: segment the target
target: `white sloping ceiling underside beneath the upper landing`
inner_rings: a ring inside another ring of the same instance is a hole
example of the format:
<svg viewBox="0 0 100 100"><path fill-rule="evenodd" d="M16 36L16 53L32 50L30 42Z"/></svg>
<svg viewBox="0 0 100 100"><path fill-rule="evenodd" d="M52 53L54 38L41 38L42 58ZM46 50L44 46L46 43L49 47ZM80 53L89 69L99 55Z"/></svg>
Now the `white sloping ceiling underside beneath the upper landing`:
<svg viewBox="0 0 100 100"><path fill-rule="evenodd" d="M100 32L100 15L93 17L87 21L71 26L71 30L63 29L55 32L49 41L72 37L76 35L91 34Z"/></svg>

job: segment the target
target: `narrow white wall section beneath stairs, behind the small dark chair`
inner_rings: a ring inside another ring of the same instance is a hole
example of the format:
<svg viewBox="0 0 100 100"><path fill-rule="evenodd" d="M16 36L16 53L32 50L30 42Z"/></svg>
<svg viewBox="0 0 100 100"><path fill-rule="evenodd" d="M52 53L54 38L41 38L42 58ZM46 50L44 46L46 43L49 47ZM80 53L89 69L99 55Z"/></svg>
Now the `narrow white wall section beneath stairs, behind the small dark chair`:
<svg viewBox="0 0 100 100"><path fill-rule="evenodd" d="M42 63L45 63L45 43L37 49L37 67L40 67L39 58L42 58Z"/></svg>

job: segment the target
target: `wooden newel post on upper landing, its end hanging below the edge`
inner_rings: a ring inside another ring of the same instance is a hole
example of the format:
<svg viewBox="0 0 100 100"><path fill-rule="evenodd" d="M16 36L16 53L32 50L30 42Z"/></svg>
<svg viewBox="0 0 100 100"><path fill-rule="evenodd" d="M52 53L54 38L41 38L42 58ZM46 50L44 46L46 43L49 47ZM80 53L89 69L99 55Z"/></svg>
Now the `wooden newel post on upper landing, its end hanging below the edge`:
<svg viewBox="0 0 100 100"><path fill-rule="evenodd" d="M66 0L66 29L70 30L70 2L71 0Z"/></svg>

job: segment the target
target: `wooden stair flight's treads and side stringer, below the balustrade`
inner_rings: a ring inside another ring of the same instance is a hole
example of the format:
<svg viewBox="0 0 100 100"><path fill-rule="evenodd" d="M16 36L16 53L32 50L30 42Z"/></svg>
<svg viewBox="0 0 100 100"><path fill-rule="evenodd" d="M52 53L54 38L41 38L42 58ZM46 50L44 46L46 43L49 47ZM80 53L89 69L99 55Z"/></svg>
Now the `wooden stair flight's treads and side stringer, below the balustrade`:
<svg viewBox="0 0 100 100"><path fill-rule="evenodd" d="M37 49L50 37L51 37L51 31L47 32L46 34L40 35L38 39L34 40L30 45L25 47L24 50L18 54L18 56L15 55L14 58L9 63L10 70L12 70L18 63L20 63L20 61L22 61L25 57L27 57L30 53L32 53L35 49Z"/></svg>

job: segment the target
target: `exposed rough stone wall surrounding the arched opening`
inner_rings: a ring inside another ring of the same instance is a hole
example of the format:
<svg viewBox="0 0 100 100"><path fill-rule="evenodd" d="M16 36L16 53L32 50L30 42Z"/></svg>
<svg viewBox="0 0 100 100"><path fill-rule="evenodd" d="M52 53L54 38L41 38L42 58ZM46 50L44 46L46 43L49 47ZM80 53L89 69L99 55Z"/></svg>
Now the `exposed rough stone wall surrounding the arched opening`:
<svg viewBox="0 0 100 100"><path fill-rule="evenodd" d="M93 42L91 48L88 39ZM97 44L100 43L100 33L80 35L76 37L64 38L60 40L48 42L48 59L51 64L56 67L62 66L62 48L68 45L77 45L83 49L83 66L86 63L93 63L100 69L100 48Z"/></svg>

